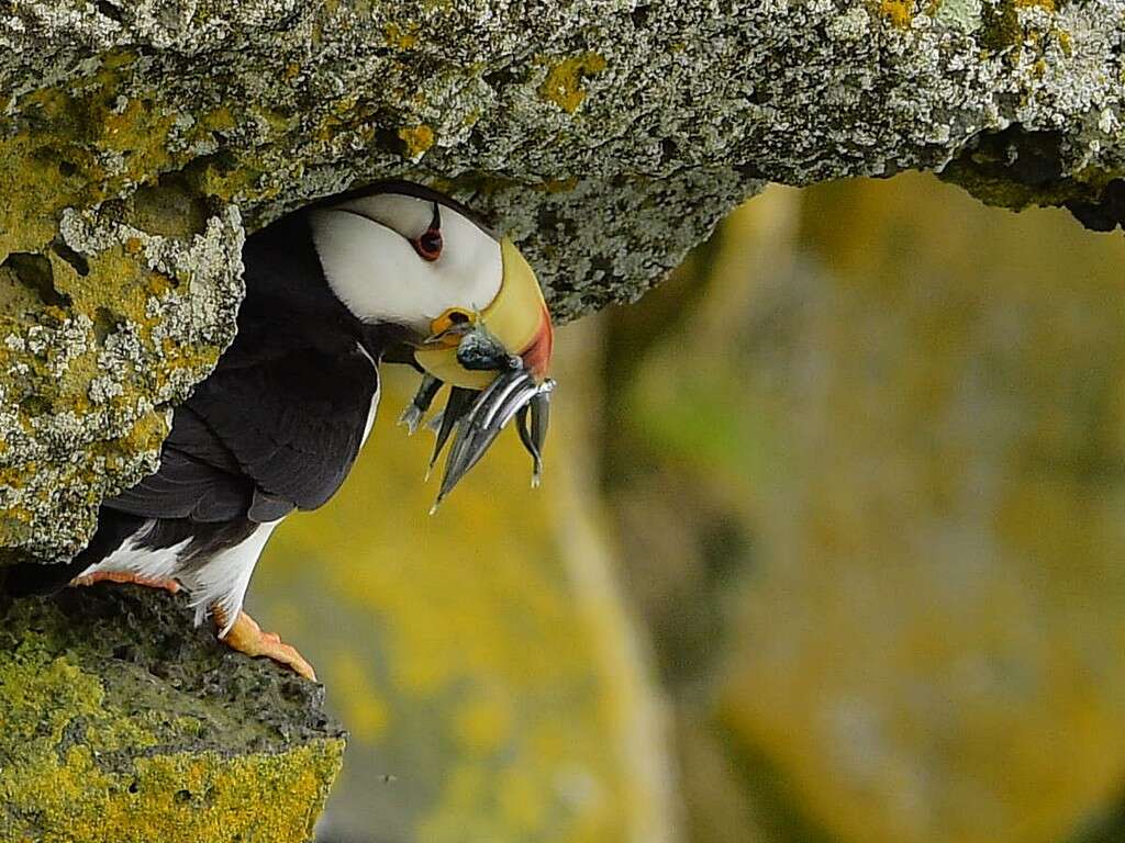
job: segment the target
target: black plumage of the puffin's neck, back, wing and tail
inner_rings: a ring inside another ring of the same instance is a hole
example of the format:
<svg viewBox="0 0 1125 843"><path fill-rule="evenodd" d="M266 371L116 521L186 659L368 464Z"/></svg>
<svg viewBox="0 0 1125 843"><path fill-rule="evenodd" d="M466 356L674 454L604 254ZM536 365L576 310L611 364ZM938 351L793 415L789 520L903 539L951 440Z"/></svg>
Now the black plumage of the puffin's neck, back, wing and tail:
<svg viewBox="0 0 1125 843"><path fill-rule="evenodd" d="M190 540L184 561L204 559L340 488L378 390L376 363L396 337L331 292L307 211L250 236L243 260L236 338L176 408L160 470L102 502L94 537L72 562L17 566L10 590L61 586L130 536L144 550Z"/></svg>

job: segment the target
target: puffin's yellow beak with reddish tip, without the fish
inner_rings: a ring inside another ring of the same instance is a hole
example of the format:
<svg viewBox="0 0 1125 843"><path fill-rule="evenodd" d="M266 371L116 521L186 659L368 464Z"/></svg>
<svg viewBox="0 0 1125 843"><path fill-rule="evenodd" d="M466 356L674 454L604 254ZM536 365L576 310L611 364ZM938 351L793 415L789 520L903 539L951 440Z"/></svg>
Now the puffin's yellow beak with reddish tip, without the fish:
<svg viewBox="0 0 1125 843"><path fill-rule="evenodd" d="M539 381L547 377L551 361L554 328L551 317L543 301L543 292L531 265L520 254L520 250L505 237L501 241L503 278L500 291L478 316L470 317L504 348L523 359L526 369ZM434 334L450 327L446 315L434 320ZM485 389L497 372L471 371L457 359L457 344L439 343L414 353L418 365L439 380L466 389Z"/></svg>

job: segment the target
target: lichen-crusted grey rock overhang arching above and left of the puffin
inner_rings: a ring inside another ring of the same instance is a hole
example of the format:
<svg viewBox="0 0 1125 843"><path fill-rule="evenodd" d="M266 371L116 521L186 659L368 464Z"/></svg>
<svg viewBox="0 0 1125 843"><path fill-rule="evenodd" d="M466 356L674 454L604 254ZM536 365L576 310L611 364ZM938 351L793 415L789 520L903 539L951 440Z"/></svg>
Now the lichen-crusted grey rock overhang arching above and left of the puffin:
<svg viewBox="0 0 1125 843"><path fill-rule="evenodd" d="M0 544L72 552L230 338L242 224L387 176L526 248L562 318L764 179L947 167L1114 225L1122 0L0 7ZM993 134L990 134L993 133Z"/></svg>

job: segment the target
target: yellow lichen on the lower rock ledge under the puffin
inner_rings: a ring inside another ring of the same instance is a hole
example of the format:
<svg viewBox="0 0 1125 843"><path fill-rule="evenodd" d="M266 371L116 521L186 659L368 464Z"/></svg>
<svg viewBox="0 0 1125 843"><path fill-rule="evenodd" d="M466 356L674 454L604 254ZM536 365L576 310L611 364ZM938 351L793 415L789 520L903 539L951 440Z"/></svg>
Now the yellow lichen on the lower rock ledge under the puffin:
<svg viewBox="0 0 1125 843"><path fill-rule="evenodd" d="M342 741L226 758L161 750L200 724L115 710L102 680L44 634L0 653L0 839L206 843L312 836ZM72 743L79 736L76 743Z"/></svg>

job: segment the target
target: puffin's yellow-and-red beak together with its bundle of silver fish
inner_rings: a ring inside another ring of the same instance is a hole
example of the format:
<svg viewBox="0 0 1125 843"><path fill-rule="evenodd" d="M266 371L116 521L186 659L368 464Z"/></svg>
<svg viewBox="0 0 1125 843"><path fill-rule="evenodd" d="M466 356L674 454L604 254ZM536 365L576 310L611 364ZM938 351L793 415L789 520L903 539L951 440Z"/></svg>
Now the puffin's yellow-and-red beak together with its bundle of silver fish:
<svg viewBox="0 0 1125 843"><path fill-rule="evenodd" d="M554 328L526 260L507 238L501 241L501 255L503 279L493 301L479 312L442 314L414 353L426 375L400 419L411 433L442 386L451 387L444 410L431 422L438 436L431 469L452 438L434 509L513 418L520 441L531 454L532 486L539 484L542 473L555 389L555 381L547 377Z"/></svg>

